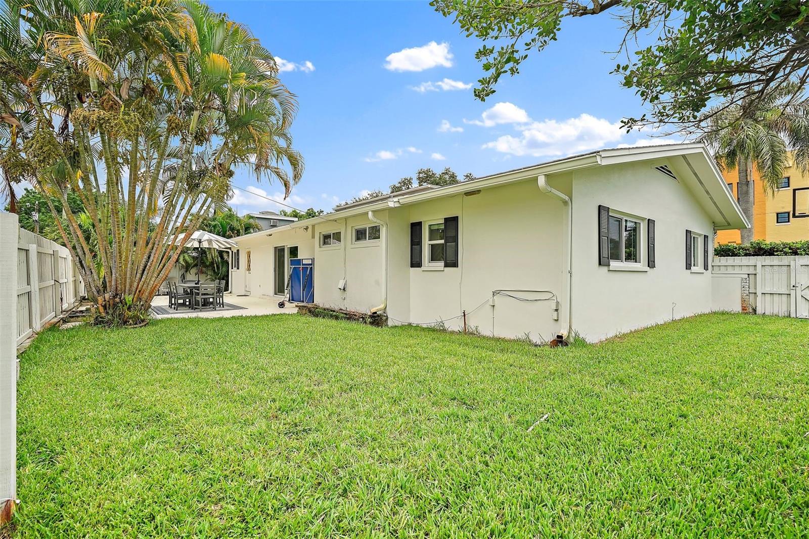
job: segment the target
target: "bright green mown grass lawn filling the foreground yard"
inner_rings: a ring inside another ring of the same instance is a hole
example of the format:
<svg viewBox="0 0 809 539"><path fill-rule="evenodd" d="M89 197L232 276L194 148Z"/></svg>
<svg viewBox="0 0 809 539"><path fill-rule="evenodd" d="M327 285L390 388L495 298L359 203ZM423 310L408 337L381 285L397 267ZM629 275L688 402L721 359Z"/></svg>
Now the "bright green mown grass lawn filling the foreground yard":
<svg viewBox="0 0 809 539"><path fill-rule="evenodd" d="M763 316L555 350L288 315L51 330L15 537L806 537L807 396L809 325Z"/></svg>

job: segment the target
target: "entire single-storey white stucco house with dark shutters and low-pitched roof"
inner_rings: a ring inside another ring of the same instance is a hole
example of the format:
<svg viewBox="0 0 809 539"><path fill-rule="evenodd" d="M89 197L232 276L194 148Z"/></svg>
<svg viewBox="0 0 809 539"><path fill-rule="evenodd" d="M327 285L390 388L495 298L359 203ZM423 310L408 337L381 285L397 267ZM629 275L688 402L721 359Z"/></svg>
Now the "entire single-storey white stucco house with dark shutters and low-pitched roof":
<svg viewBox="0 0 809 539"><path fill-rule="evenodd" d="M321 305L592 342L709 312L714 231L740 227L705 146L602 150L239 237L233 288L281 299L311 258Z"/></svg>

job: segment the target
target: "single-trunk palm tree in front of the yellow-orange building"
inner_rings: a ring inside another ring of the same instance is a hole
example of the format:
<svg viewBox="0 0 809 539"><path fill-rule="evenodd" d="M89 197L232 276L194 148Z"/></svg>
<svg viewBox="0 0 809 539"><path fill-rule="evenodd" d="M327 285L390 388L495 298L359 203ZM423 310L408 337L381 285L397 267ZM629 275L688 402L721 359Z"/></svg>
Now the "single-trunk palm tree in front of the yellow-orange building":
<svg viewBox="0 0 809 539"><path fill-rule="evenodd" d="M809 170L809 98L794 87L771 91L763 99L743 100L708 112L701 141L714 150L724 170L739 172L739 206L750 228L741 231L742 243L753 240L752 169L773 193L786 168L789 152L795 166Z"/></svg>

